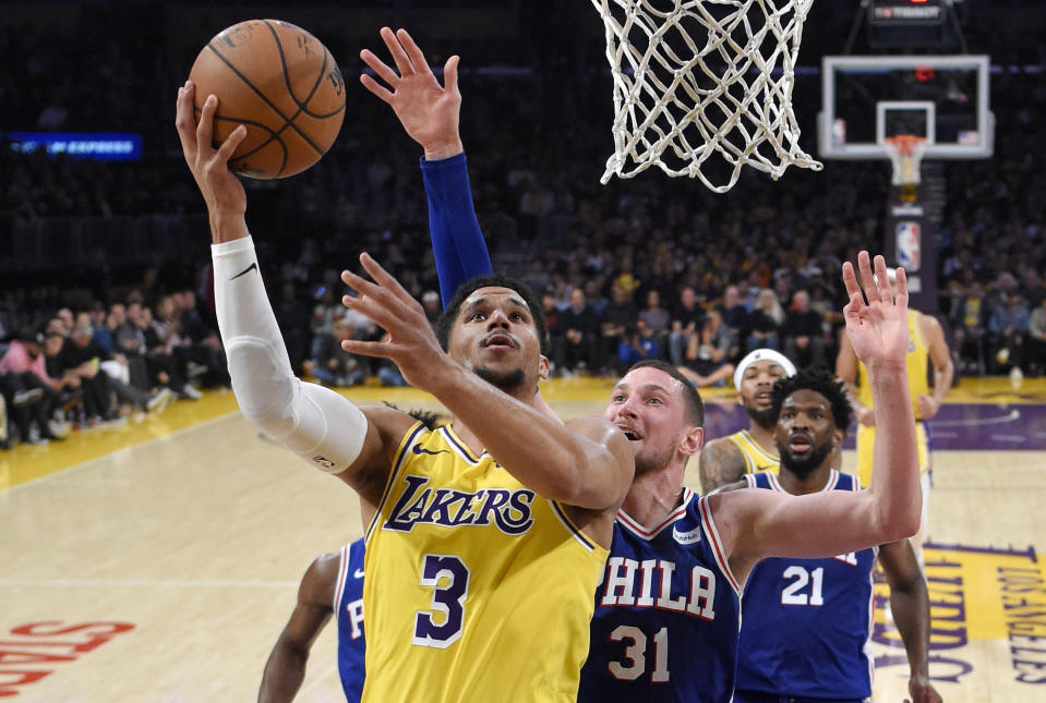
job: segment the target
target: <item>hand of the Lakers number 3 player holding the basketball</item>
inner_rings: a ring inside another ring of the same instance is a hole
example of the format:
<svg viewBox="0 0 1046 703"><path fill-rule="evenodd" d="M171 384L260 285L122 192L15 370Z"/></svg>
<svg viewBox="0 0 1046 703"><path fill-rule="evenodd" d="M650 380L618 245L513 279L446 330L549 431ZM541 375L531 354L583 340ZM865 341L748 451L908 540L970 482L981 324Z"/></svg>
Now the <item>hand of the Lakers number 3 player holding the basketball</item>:
<svg viewBox="0 0 1046 703"><path fill-rule="evenodd" d="M215 148L214 113L218 109L218 98L207 96L197 125L193 120L193 90L191 81L178 88L175 126L178 128L185 162L203 193L213 223L218 215L243 215L247 211L243 184L229 169L229 158L247 136L247 128L241 124L221 146Z"/></svg>

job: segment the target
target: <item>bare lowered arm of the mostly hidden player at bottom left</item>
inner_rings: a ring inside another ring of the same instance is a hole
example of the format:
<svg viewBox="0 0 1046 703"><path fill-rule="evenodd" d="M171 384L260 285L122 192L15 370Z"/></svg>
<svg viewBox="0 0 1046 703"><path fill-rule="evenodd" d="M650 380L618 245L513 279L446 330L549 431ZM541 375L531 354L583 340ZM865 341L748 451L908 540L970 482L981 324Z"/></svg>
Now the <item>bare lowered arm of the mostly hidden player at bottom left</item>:
<svg viewBox="0 0 1046 703"><path fill-rule="evenodd" d="M338 557L337 554L317 557L302 577L298 603L265 663L259 703L289 703L301 688L309 650L334 613Z"/></svg>

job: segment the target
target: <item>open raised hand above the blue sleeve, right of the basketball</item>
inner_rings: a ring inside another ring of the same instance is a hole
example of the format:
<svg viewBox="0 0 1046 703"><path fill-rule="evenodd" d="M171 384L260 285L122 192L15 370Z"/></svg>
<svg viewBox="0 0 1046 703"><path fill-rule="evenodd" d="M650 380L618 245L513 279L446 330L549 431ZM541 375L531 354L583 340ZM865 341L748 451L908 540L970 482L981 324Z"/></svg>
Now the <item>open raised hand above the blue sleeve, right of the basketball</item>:
<svg viewBox="0 0 1046 703"><path fill-rule="evenodd" d="M370 49L360 51L360 58L392 90L365 73L360 75L360 83L393 108L407 134L424 147L426 159L443 159L460 154L464 147L458 134L461 111L458 57L447 59L443 68L446 85L441 86L424 53L406 29L397 29L394 34L388 27L382 27L382 39L397 70L386 65Z"/></svg>

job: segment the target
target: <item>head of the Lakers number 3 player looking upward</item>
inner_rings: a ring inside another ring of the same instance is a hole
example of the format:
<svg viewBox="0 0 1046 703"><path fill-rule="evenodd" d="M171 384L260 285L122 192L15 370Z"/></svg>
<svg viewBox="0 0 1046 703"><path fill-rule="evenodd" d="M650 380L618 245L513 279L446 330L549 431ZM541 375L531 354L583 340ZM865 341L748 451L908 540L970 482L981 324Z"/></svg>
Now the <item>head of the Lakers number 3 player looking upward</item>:
<svg viewBox="0 0 1046 703"><path fill-rule="evenodd" d="M450 356L502 390L548 376L533 315L510 288L478 288L465 299L448 346Z"/></svg>

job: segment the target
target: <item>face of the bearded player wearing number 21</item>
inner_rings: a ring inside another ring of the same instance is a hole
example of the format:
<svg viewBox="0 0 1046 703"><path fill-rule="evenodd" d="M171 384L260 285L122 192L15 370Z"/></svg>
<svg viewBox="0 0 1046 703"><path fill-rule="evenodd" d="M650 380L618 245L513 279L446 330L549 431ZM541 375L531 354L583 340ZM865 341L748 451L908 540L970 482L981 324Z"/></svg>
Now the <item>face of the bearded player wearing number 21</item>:
<svg viewBox="0 0 1046 703"><path fill-rule="evenodd" d="M831 403L816 390L799 389L781 403L774 441L781 468L805 478L828 465L832 449L842 439L835 429Z"/></svg>

